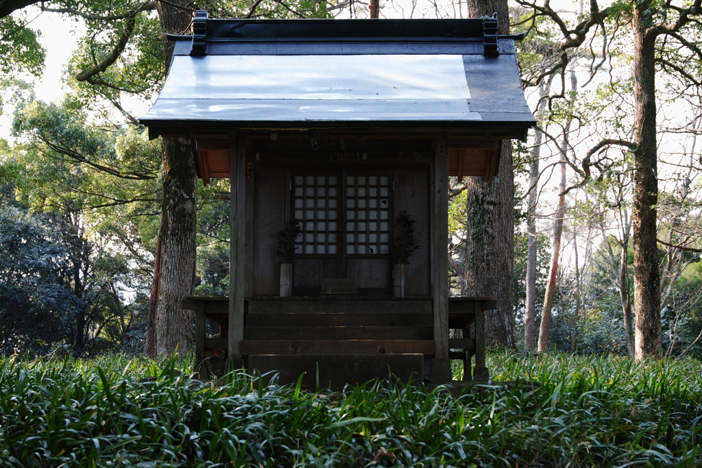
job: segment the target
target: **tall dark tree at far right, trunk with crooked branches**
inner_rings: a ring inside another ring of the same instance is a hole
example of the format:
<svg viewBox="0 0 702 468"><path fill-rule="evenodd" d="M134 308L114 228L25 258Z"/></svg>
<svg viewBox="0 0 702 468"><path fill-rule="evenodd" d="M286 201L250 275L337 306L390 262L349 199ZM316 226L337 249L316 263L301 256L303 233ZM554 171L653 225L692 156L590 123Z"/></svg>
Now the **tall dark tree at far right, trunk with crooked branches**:
<svg viewBox="0 0 702 468"><path fill-rule="evenodd" d="M698 24L702 15L702 0L691 4L660 4L651 0L635 0L628 4L616 4L600 8L596 1L590 2L589 14L576 26L569 27L559 12L550 4L539 5L533 1L518 0L519 4L534 11L534 15L550 18L563 34L560 50L562 60L553 69L565 74L568 65L567 51L579 47L592 29L606 32L605 20L611 19L618 26L628 25L633 46L634 82L634 131L631 138L603 138L597 142L583 159L583 170L588 175L592 166L597 166L597 155L605 154L609 147L624 147L633 154L634 203L634 309L635 358L661 354L661 293L658 271L658 248L656 241L656 204L658 203L658 148L656 142L656 63L665 72L677 74L691 86L700 86L694 74L687 72L698 67L702 61L702 50L694 40L696 36L689 26ZM687 32L685 29L687 28ZM664 57L656 41L664 38L676 44L675 53ZM609 41L602 41L604 53ZM684 52L680 52L684 51ZM677 64L676 64L677 61ZM604 57L602 62L603 63ZM593 63L595 63L593 61ZM546 76L546 75L544 75Z"/></svg>

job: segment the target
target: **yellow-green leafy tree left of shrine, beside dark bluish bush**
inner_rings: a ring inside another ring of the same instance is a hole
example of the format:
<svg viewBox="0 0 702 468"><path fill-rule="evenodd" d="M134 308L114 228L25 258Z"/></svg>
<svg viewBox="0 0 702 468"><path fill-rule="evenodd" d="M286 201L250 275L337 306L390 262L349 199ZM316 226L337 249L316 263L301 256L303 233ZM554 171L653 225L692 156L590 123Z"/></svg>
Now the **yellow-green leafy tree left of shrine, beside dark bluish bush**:
<svg viewBox="0 0 702 468"><path fill-rule="evenodd" d="M8 149L0 167L12 168L15 203L62 227L65 281L79 304L63 338L77 352L135 352L152 274L160 149L143 129L88 125L88 114L70 98L21 103L14 129L24 144Z"/></svg>

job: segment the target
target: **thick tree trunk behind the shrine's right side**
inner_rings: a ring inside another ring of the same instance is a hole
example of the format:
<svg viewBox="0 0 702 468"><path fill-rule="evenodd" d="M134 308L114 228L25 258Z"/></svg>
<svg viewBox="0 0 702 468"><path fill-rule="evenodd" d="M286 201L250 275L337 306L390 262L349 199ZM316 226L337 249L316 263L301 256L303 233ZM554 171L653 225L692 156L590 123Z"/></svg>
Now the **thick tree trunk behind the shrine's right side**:
<svg viewBox="0 0 702 468"><path fill-rule="evenodd" d="M472 18L497 13L498 34L508 34L506 0L469 0ZM471 177L468 189L468 253L463 274L465 293L498 300L499 309L485 314L488 346L515 347L512 276L515 236L515 187L512 145L503 140L500 168L491 184Z"/></svg>

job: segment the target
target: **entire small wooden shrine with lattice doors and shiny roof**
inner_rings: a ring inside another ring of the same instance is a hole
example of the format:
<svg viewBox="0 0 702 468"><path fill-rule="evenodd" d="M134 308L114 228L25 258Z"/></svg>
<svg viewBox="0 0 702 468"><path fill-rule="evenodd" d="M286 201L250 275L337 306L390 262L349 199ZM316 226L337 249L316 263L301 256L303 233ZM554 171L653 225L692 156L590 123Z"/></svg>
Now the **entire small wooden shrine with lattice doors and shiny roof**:
<svg viewBox="0 0 702 468"><path fill-rule="evenodd" d="M449 299L449 176L496 174L501 141L535 123L515 36L494 18L208 19L176 41L150 136L192 139L199 176L231 178L229 297L190 297L198 363L314 384L484 375L489 298ZM393 296L401 213L420 248ZM280 232L296 220L291 296ZM491 268L492 265L485 265ZM205 336L209 319L219 337ZM475 323L475 327L470 327ZM449 328L465 331L449 338ZM204 370L206 368L204 367Z"/></svg>

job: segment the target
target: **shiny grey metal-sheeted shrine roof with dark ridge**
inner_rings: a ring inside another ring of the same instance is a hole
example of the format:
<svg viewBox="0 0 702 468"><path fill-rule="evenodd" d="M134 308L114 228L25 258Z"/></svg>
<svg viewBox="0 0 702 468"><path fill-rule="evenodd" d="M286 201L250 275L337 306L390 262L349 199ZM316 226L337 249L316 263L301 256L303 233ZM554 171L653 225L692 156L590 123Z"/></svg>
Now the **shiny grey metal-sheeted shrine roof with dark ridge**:
<svg viewBox="0 0 702 468"><path fill-rule="evenodd" d="M234 20L198 12L141 122L201 128L506 128L535 120L493 18Z"/></svg>

